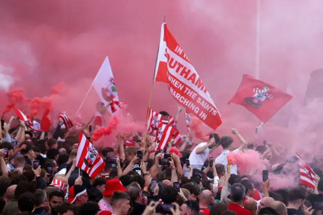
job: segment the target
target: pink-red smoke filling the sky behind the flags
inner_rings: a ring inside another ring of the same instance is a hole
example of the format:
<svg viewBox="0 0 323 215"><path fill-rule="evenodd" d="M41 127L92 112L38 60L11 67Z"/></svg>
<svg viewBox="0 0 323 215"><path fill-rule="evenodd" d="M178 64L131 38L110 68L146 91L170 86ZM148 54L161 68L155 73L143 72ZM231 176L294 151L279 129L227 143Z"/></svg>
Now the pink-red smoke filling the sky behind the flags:
<svg viewBox="0 0 323 215"><path fill-rule="evenodd" d="M260 2L260 79L280 89L289 86L294 95L292 101L302 101L310 72L321 67L323 3L319 0ZM109 56L120 100L128 104L134 120L145 121L164 16L218 110L226 112L219 128L221 134L230 134L230 127L238 128L252 141L254 128L260 122L243 107L227 105L242 74L254 76L256 1L252 0L129 1L127 4L2 1L1 108L6 109L3 95L15 84L33 98L30 107L24 104L24 108L31 108L34 115L48 106L74 115L105 56ZM50 90L59 82L68 86L63 95ZM97 99L92 90L81 109L85 118L94 115ZM175 115L177 105L165 84L154 84L153 110ZM284 128L289 111L287 105L264 126L265 134L259 134L259 138L286 148L291 145L303 148L307 139L315 142L317 132L311 127L306 134L299 132L304 131L304 126ZM313 108L311 114L319 115L319 111ZM299 125L303 125L304 118L311 118L306 113L301 113L302 118L296 116ZM184 115L178 124L185 133ZM302 133L301 139L297 138ZM315 148L314 143L311 146Z"/></svg>

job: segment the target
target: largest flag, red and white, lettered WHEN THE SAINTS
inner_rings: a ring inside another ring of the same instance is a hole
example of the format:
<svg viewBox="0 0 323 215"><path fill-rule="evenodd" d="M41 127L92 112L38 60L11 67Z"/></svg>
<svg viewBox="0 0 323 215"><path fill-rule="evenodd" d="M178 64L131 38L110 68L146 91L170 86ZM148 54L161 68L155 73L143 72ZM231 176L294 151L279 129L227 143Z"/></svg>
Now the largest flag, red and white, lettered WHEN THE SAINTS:
<svg viewBox="0 0 323 215"><path fill-rule="evenodd" d="M168 84L172 96L186 108L187 113L196 115L213 130L222 124L216 105L166 23L161 25L154 78Z"/></svg>

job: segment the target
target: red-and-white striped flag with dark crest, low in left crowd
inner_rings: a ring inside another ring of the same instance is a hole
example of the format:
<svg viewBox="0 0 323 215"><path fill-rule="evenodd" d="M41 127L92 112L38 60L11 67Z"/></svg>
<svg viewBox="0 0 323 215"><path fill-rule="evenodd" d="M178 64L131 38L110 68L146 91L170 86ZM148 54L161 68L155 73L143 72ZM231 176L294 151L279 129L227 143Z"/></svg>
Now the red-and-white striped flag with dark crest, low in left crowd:
<svg viewBox="0 0 323 215"><path fill-rule="evenodd" d="M95 178L105 167L102 157L82 132L79 137L76 166L84 170L91 178Z"/></svg>

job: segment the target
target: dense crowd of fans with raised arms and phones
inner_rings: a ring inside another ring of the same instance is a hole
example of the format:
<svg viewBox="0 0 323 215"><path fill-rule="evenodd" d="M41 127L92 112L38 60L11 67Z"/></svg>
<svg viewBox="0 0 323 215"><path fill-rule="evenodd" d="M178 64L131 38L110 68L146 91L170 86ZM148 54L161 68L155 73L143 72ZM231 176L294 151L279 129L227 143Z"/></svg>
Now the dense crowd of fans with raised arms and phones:
<svg viewBox="0 0 323 215"><path fill-rule="evenodd" d="M60 121L45 133L31 131L22 121L11 128L14 123L18 120L12 117L1 128L0 214L310 215L323 210L319 159L313 164L315 189L298 185L273 190L270 177L259 181L240 175L237 165L228 164L228 153L256 150L262 159L280 156L282 164L296 165L297 161L282 158L271 144L252 149L236 129L232 134L241 144L235 150L231 136L214 133L207 142L185 136L176 147L170 141L165 150L149 153L153 137L143 141L141 133L119 134L114 144L106 144L112 147L96 148L106 166L90 178L76 167L79 132L91 136L87 126L66 130ZM138 147L127 147L128 139ZM210 157L218 147L222 153ZM287 167L268 170L286 174L291 171Z"/></svg>

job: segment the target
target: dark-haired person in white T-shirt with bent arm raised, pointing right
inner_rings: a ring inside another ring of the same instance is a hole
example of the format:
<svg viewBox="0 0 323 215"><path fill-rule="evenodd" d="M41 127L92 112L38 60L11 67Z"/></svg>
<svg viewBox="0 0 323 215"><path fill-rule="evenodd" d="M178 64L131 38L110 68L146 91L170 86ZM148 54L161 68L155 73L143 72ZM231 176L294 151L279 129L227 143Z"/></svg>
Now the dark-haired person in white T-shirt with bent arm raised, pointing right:
<svg viewBox="0 0 323 215"><path fill-rule="evenodd" d="M241 143L238 149L233 150L232 152L238 152L245 149L248 145L248 142L239 134L238 130L235 128L231 129L232 134L236 135ZM227 154L231 152L231 146L233 143L233 138L230 136L223 136L220 139L220 144L223 147L222 153L216 158L216 164L223 164L226 167L228 166ZM237 165L230 165L230 174L237 174Z"/></svg>

